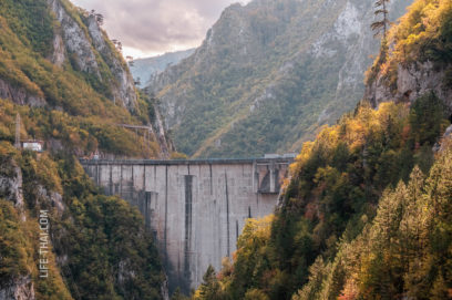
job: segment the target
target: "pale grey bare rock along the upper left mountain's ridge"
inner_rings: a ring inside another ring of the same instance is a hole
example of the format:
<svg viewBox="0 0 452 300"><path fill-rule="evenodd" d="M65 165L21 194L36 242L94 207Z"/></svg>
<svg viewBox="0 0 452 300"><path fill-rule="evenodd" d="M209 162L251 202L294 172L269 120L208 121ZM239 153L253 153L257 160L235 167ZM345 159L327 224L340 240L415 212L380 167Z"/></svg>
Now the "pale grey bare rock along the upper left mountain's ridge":
<svg viewBox="0 0 452 300"><path fill-rule="evenodd" d="M136 93L133 77L125 62L107 44L107 37L99 27L95 17L85 15L86 24L81 24L60 0L48 0L48 3L61 24L61 30L56 30L53 41L52 62L61 66L70 59L80 71L94 75L101 82L107 81L112 100L131 112L134 111ZM109 70L102 70L101 63L105 63ZM112 79L107 79L102 72L110 72Z"/></svg>

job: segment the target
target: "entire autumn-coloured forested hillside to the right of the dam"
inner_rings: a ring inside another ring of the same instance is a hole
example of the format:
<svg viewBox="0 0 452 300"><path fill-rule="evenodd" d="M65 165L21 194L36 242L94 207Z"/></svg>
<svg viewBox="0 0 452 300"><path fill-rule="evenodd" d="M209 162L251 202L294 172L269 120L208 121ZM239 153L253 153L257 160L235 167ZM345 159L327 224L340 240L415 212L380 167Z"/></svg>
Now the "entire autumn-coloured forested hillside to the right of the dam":
<svg viewBox="0 0 452 300"><path fill-rule="evenodd" d="M403 53L441 66L423 74L436 84L396 79L378 108L364 100L305 143L275 215L248 221L194 299L451 298L451 1L414 1L367 81L400 75ZM397 97L407 84L427 87Z"/></svg>

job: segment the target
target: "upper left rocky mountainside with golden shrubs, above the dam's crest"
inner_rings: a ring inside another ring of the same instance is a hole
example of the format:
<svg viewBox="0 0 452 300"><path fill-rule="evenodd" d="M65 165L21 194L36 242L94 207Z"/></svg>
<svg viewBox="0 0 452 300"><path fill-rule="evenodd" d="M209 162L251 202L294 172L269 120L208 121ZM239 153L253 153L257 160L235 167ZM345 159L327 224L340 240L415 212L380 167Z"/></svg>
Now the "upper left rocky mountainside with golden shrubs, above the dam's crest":
<svg viewBox="0 0 452 300"><path fill-rule="evenodd" d="M135 89L97 14L66 0L8 0L0 8L0 99L38 110L40 116L65 114L59 118L64 126L50 130L40 117L40 125L21 138L38 137L50 149L79 156L99 151L170 157L174 147L155 101ZM0 137L13 138L13 128L7 127Z"/></svg>

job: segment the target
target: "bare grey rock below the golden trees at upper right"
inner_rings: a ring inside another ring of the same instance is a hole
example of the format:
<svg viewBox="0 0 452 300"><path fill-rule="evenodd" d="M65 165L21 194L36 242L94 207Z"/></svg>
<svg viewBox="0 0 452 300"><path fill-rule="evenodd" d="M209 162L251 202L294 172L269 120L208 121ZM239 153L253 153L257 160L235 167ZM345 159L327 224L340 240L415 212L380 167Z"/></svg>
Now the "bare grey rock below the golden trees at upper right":
<svg viewBox="0 0 452 300"><path fill-rule="evenodd" d="M364 99L374 106L384 101L410 101L434 92L443 100L452 112L452 89L444 84L448 65L438 66L434 63L414 62L410 65L398 65L397 86L390 86L386 76L379 74L377 80L366 89Z"/></svg>

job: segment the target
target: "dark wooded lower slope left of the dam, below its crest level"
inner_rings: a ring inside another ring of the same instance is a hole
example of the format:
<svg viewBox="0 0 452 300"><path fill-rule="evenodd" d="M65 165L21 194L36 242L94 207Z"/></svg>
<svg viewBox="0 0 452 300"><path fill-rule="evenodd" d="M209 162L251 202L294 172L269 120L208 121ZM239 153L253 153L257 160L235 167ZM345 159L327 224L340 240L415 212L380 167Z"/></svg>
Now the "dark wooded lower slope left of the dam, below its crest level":
<svg viewBox="0 0 452 300"><path fill-rule="evenodd" d="M20 153L1 142L0 166L1 299L163 298L165 277L143 217L103 196L73 156Z"/></svg>

